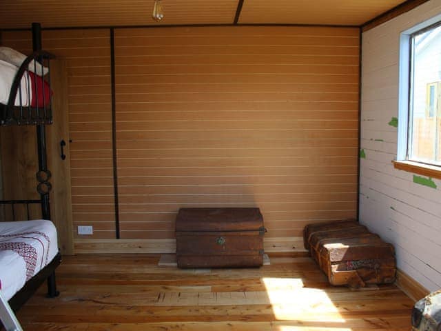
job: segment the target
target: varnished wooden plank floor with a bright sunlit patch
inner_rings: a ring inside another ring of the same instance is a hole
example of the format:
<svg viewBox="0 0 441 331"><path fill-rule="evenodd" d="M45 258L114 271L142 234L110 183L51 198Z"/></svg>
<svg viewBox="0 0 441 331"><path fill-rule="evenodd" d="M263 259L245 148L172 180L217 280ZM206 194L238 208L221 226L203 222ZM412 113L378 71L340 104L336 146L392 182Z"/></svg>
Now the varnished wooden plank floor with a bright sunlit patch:
<svg viewBox="0 0 441 331"><path fill-rule="evenodd" d="M24 330L410 330L413 302L395 285L331 287L309 257L260 269L178 270L159 256L64 257L61 296L45 288L18 313Z"/></svg>

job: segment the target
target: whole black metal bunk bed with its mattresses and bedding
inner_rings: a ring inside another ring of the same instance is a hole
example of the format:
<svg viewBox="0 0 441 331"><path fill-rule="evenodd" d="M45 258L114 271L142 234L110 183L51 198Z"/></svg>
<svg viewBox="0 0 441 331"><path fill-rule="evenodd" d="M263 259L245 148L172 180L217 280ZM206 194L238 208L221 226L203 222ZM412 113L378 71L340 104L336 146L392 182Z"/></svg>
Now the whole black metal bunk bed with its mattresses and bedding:
<svg viewBox="0 0 441 331"><path fill-rule="evenodd" d="M45 280L48 297L59 295L54 270L61 263L61 255L57 230L50 221L52 185L45 138L45 126L52 123L50 59L54 57L41 50L39 23L32 23L32 46L32 54L24 59L14 50L0 49L0 124L37 127L36 177L40 196L40 199L0 201L3 212L9 210L8 215L12 215L11 221L0 222L0 253L3 253L0 263L7 263L3 265L6 268L0 268L0 317L6 330L19 330L17 325L14 327L12 310L17 311ZM39 220L30 220L30 205L34 204L41 205ZM15 219L17 205L25 205L27 220ZM22 272L14 268L24 269L25 274L21 276Z"/></svg>

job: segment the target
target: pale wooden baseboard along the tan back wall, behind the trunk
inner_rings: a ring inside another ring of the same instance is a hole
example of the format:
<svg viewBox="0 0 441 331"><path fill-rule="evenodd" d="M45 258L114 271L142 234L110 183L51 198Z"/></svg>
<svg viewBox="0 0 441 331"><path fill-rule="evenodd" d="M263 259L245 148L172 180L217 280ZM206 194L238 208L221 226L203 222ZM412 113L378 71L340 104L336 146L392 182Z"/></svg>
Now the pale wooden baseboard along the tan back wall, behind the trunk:
<svg viewBox="0 0 441 331"><path fill-rule="evenodd" d="M302 237L265 238L265 252L306 252ZM75 254L176 252L175 239L75 239Z"/></svg>

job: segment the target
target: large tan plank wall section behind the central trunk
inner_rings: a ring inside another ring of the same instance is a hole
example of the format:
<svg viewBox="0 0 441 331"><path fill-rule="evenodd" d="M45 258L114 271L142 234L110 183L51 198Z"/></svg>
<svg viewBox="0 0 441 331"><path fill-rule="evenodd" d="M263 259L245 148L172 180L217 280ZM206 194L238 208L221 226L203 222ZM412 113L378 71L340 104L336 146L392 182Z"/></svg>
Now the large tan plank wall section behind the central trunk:
<svg viewBox="0 0 441 331"><path fill-rule="evenodd" d="M356 217L358 29L115 36L121 238L173 238L181 207L257 206L293 243Z"/></svg>

